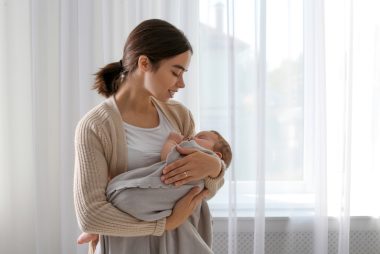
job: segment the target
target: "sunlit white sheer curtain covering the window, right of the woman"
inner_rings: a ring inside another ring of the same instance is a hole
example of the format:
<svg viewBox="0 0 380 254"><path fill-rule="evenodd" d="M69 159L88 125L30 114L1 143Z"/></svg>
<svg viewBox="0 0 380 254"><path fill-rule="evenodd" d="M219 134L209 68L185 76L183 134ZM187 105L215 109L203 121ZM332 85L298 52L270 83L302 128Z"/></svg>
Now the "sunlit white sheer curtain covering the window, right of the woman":
<svg viewBox="0 0 380 254"><path fill-rule="evenodd" d="M199 124L234 151L210 202L228 216L228 253L348 254L357 221L379 232L379 8L200 1ZM254 224L239 225L245 217Z"/></svg>

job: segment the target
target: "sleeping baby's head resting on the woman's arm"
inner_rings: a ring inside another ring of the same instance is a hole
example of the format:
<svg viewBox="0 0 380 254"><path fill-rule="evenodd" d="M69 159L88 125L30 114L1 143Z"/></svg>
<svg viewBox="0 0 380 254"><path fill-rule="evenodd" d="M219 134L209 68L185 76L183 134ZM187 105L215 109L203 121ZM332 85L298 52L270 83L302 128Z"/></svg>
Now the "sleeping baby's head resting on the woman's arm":
<svg viewBox="0 0 380 254"><path fill-rule="evenodd" d="M198 145L215 152L226 164L226 168L231 163L232 151L227 141L217 131L201 131L194 136L194 141Z"/></svg>

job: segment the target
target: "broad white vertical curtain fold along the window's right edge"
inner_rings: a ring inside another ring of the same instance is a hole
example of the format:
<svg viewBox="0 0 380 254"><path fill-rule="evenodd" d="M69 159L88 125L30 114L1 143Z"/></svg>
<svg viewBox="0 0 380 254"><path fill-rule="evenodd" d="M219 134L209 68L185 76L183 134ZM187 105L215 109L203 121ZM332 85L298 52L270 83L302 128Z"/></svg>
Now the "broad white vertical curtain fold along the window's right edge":
<svg viewBox="0 0 380 254"><path fill-rule="evenodd" d="M304 153L314 176L313 253L328 253L323 1L304 1Z"/></svg>

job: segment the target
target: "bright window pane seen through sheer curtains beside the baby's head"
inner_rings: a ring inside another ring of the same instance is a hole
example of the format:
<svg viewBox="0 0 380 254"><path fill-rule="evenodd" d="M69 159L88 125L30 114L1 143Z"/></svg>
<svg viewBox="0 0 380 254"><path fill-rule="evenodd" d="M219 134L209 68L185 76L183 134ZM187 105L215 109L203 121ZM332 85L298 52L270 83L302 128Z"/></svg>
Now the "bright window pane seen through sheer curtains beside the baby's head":
<svg viewBox="0 0 380 254"><path fill-rule="evenodd" d="M253 216L255 202L252 195L256 175L252 166L256 160L252 2L235 3L234 20L229 22L229 25L234 23L234 36L231 36L232 28L227 29L228 2L200 1L200 129L217 129L228 140L234 135L233 170L239 216ZM307 200L311 195L308 192L311 176L303 168L302 8L301 0L267 1L265 163L268 216L304 214L310 207ZM235 119L233 130L231 119ZM226 182L209 202L216 216L227 215L228 188Z"/></svg>

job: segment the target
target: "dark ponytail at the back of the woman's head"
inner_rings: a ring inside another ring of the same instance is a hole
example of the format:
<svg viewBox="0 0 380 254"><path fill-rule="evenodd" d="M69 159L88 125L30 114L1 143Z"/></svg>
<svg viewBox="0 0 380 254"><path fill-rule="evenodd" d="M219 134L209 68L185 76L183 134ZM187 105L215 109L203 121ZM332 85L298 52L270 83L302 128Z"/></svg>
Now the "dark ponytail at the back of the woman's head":
<svg viewBox="0 0 380 254"><path fill-rule="evenodd" d="M107 64L95 73L93 89L106 98L114 95L123 82L124 73L122 61Z"/></svg>

